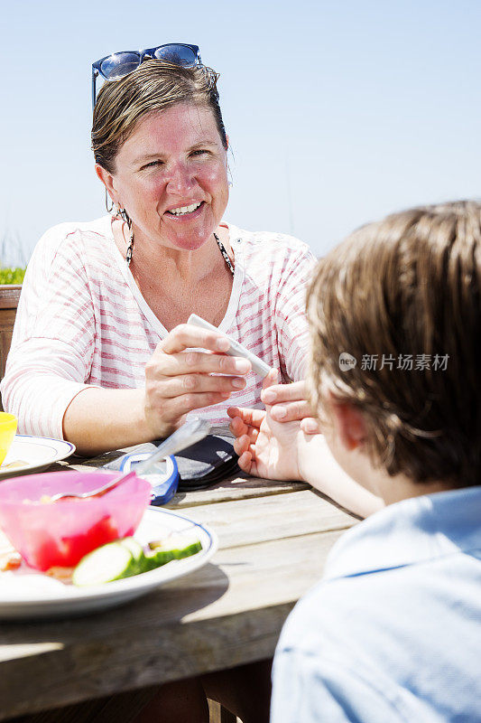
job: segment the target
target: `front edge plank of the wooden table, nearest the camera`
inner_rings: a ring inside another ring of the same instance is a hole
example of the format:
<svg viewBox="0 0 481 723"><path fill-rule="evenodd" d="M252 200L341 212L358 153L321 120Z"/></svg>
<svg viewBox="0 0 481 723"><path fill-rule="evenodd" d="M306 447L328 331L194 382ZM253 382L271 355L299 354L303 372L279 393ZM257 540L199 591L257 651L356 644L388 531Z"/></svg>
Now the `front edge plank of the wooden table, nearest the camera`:
<svg viewBox="0 0 481 723"><path fill-rule="evenodd" d="M340 531L221 549L108 613L0 629L0 720L263 660ZM128 615L126 615L128 610Z"/></svg>

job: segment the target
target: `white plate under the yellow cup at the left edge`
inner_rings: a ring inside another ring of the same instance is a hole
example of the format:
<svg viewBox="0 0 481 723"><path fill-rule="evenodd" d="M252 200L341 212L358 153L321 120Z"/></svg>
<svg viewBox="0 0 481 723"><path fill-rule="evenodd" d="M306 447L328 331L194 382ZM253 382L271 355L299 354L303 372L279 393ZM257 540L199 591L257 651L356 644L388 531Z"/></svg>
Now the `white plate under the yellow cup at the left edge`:
<svg viewBox="0 0 481 723"><path fill-rule="evenodd" d="M42 472L54 462L65 459L75 452L75 446L70 442L50 437L33 437L32 435L15 435L12 446L8 450L3 465L0 467L0 480L14 477L17 474L31 474ZM22 462L21 466L10 469L8 465L13 462Z"/></svg>

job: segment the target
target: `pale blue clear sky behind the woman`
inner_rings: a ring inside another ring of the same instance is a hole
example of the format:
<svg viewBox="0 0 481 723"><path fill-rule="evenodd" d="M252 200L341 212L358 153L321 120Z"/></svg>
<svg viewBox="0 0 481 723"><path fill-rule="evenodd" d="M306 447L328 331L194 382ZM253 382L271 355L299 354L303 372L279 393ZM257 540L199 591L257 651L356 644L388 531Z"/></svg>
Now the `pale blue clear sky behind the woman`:
<svg viewBox="0 0 481 723"><path fill-rule="evenodd" d="M481 195L478 0L1 2L0 241L105 212L90 64L193 42L220 72L234 155L226 219L320 256L356 226ZM1 248L1 247L0 247Z"/></svg>

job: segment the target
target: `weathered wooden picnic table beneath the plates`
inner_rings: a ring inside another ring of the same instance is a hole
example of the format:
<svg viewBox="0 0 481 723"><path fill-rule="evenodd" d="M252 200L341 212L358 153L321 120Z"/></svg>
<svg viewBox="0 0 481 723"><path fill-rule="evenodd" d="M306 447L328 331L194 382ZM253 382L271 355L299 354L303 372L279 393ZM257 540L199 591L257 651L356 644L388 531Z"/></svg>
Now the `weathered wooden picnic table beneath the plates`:
<svg viewBox="0 0 481 723"><path fill-rule="evenodd" d="M0 721L271 657L292 606L356 522L307 484L241 476L178 493L168 508L217 532L215 556L105 612L0 622Z"/></svg>

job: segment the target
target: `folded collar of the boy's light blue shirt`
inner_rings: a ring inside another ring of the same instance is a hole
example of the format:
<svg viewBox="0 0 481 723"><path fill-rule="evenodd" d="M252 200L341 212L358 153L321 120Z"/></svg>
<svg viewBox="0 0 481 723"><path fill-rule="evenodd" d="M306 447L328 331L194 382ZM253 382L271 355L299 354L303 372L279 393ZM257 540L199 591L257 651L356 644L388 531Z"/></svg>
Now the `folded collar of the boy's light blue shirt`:
<svg viewBox="0 0 481 723"><path fill-rule="evenodd" d="M395 502L347 531L324 579L399 568L454 552L481 554L481 486Z"/></svg>

